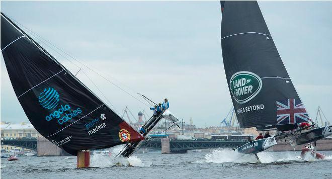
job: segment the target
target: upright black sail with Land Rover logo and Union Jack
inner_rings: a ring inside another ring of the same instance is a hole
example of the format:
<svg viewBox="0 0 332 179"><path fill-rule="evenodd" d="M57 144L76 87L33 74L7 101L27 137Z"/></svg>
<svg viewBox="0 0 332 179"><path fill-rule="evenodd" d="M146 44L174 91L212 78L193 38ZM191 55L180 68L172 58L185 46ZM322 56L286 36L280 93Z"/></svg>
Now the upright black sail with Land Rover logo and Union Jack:
<svg viewBox="0 0 332 179"><path fill-rule="evenodd" d="M241 128L310 121L256 1L221 3L221 46Z"/></svg>

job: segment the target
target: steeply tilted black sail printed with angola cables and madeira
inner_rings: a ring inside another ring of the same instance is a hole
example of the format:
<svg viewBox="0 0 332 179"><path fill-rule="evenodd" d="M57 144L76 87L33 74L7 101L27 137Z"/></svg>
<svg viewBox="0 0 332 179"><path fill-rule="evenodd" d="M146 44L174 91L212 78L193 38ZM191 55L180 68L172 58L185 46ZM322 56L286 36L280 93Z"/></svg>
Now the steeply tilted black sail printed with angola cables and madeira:
<svg viewBox="0 0 332 179"><path fill-rule="evenodd" d="M76 155L143 139L3 13L1 50L24 112L55 145Z"/></svg>

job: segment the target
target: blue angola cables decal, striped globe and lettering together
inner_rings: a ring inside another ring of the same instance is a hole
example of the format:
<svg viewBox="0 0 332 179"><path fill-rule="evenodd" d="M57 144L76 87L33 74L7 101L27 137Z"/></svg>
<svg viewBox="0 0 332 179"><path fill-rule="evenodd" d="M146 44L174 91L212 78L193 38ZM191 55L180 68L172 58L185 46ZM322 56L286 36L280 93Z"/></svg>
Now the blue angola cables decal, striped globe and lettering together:
<svg viewBox="0 0 332 179"><path fill-rule="evenodd" d="M47 109L56 109L59 105L59 94L53 87L45 88L38 97L40 105ZM57 110L53 111L49 115L45 116L46 121L51 121L52 119L57 119L59 124L63 124L78 114L82 113L80 108L71 109L70 105L64 104L60 105Z"/></svg>

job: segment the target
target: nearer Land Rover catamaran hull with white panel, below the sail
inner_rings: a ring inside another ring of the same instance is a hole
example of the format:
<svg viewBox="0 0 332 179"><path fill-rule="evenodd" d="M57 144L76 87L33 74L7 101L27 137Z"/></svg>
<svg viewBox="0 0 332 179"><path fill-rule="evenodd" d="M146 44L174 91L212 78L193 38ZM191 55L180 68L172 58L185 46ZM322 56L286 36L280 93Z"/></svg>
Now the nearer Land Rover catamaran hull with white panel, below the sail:
<svg viewBox="0 0 332 179"><path fill-rule="evenodd" d="M248 142L237 149L235 151L239 153L245 153L245 154L256 154L259 152L262 152L268 148L271 148L272 146L276 145L276 139L274 136L264 138L264 139L259 139L259 140L254 140L252 142Z"/></svg>

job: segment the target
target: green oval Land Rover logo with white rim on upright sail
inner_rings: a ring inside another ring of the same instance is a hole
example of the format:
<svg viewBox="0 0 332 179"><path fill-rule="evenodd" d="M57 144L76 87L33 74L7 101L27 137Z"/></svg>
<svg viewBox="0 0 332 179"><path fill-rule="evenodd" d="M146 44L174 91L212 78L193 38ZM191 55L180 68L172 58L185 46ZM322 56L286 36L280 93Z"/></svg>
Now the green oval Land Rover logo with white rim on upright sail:
<svg viewBox="0 0 332 179"><path fill-rule="evenodd" d="M253 99L262 89L262 79L255 73L239 71L229 80L230 92L234 100L243 104Z"/></svg>

